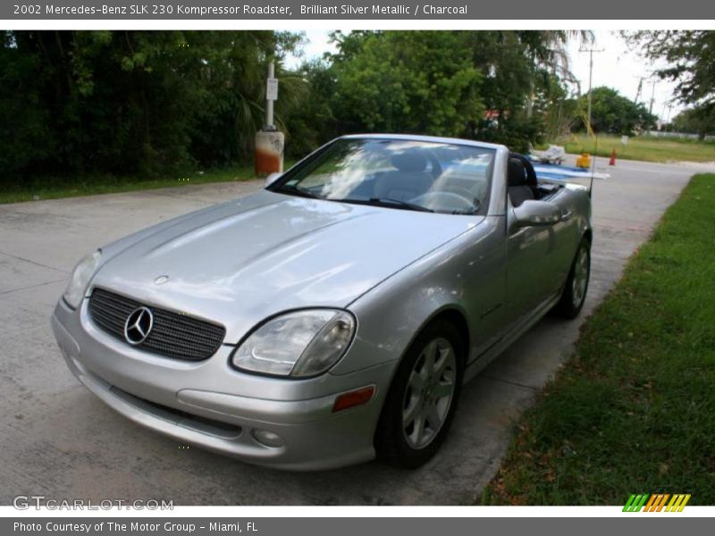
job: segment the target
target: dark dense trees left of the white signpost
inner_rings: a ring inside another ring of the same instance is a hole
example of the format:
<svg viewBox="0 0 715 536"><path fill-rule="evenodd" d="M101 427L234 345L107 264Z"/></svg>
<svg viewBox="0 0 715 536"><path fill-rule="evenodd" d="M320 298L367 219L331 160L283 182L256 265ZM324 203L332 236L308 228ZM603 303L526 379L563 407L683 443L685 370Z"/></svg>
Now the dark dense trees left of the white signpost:
<svg viewBox="0 0 715 536"><path fill-rule="evenodd" d="M279 119L306 93L282 71L296 34L12 31L0 50L0 179L156 175L248 159L278 62Z"/></svg>

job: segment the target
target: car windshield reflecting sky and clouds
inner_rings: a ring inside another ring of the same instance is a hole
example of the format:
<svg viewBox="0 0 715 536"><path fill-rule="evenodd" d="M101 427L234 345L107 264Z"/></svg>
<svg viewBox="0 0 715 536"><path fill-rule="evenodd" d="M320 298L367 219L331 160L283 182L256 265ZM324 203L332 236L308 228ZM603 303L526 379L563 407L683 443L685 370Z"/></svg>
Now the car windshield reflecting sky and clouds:
<svg viewBox="0 0 715 536"><path fill-rule="evenodd" d="M442 214L487 205L494 150L402 139L338 139L270 189Z"/></svg>

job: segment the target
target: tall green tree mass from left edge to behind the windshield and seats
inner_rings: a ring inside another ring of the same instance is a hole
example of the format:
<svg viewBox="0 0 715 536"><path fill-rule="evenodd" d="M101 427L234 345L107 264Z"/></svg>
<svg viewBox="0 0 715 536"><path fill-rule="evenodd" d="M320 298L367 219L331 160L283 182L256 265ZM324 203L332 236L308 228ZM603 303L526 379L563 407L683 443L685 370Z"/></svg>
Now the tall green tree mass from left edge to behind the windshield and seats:
<svg viewBox="0 0 715 536"><path fill-rule="evenodd" d="M290 32L5 31L0 181L246 161L270 59L291 155L378 130L526 150L563 120L562 33L336 32L337 54L292 72L283 58L300 36Z"/></svg>

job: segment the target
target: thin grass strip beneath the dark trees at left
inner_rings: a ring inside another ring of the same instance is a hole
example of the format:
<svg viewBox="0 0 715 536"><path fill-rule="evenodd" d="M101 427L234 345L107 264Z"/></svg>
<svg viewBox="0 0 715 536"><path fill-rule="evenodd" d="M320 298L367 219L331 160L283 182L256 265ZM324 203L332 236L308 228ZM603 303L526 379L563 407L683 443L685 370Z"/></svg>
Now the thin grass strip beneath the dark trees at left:
<svg viewBox="0 0 715 536"><path fill-rule="evenodd" d="M286 166L287 168L288 166ZM19 203L38 199L58 199L60 197L93 196L114 194L135 190L188 186L207 182L229 182L232 180L255 179L253 166L241 166L209 170L203 173L190 172L161 179L141 180L136 177L99 176L79 179L44 178L3 186L0 190L0 204Z"/></svg>

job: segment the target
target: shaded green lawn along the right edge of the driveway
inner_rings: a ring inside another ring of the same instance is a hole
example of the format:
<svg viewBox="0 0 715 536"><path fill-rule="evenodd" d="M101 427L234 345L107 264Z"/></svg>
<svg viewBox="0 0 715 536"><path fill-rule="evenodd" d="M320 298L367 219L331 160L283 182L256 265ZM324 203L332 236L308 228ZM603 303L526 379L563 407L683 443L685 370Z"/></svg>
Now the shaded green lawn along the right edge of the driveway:
<svg viewBox="0 0 715 536"><path fill-rule="evenodd" d="M517 423L484 504L715 505L715 175L695 175Z"/></svg>

